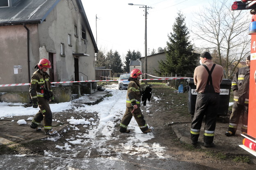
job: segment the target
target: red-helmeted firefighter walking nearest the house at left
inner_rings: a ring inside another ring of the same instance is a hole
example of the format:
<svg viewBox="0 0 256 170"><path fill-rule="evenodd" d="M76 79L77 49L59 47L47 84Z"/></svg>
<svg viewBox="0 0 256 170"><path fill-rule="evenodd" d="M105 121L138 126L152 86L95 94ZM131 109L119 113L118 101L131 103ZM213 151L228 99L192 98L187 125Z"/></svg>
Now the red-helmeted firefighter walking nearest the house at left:
<svg viewBox="0 0 256 170"><path fill-rule="evenodd" d="M49 106L49 101L53 101L52 87L50 76L47 70L51 68L51 63L48 59L43 58L35 66L37 69L31 78L31 85L29 87L29 94L32 98L33 107L39 106L40 110L34 116L30 123L30 128L36 131L41 131L39 124L43 121L45 134L56 134L57 131L52 130L52 111Z"/></svg>

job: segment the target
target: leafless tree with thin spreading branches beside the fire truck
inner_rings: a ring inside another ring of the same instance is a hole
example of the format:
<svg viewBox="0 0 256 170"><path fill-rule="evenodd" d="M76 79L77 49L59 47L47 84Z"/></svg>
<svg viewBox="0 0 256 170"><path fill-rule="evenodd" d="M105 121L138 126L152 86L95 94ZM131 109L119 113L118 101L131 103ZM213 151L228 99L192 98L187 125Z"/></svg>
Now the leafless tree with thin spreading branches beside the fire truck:
<svg viewBox="0 0 256 170"><path fill-rule="evenodd" d="M231 1L213 0L210 7L195 13L191 28L194 40L204 45L197 49L215 49L225 78L233 76L240 60L250 53L249 11L231 11L230 6Z"/></svg>

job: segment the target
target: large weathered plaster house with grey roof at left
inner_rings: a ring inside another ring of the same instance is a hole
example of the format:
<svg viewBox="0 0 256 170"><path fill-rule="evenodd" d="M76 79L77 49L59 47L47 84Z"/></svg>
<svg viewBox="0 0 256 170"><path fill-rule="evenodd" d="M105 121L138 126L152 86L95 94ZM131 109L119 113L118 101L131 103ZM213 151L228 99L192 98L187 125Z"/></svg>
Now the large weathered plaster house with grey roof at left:
<svg viewBox="0 0 256 170"><path fill-rule="evenodd" d="M95 80L98 49L81 0L1 0L0 42L0 84L30 83L41 58L51 82ZM0 88L14 91L28 86Z"/></svg>

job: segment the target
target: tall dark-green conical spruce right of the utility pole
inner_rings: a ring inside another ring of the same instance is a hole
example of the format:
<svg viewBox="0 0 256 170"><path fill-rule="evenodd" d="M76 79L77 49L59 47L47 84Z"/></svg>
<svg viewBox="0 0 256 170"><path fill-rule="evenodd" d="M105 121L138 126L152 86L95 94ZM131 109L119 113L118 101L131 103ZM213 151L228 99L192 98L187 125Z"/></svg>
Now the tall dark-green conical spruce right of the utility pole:
<svg viewBox="0 0 256 170"><path fill-rule="evenodd" d="M166 59L159 61L159 75L187 74L194 71L198 54L193 53L193 45L188 41L189 32L185 24L185 17L179 11L172 26L173 33L168 35L170 42L165 48Z"/></svg>

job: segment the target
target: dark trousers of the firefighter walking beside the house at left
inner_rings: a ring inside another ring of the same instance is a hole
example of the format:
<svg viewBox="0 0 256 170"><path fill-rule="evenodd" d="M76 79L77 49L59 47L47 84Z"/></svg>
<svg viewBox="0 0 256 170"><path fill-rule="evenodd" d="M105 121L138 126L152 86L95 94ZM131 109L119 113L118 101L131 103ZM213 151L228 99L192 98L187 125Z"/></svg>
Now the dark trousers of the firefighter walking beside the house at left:
<svg viewBox="0 0 256 170"><path fill-rule="evenodd" d="M45 132L52 129L52 111L48 101L44 97L38 97L39 112L36 113L32 123L37 126L43 121Z"/></svg>

